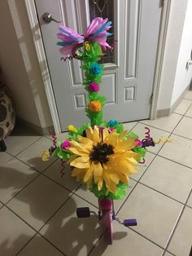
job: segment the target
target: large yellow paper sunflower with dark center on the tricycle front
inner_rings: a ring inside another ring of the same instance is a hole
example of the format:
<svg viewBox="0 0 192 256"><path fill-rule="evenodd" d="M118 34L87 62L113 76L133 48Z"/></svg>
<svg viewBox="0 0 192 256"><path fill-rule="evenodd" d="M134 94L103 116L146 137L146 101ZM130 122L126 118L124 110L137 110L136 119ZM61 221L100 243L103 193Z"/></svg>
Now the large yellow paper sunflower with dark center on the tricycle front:
<svg viewBox="0 0 192 256"><path fill-rule="evenodd" d="M98 185L98 191L106 184L107 192L116 193L116 185L121 181L129 182L129 174L136 173L135 165L141 157L132 149L137 146L134 138L126 139L127 130L120 135L116 130L89 127L86 137L77 135L77 141L70 141L72 152L69 159L73 166L72 176L86 183L88 188L92 182Z"/></svg>

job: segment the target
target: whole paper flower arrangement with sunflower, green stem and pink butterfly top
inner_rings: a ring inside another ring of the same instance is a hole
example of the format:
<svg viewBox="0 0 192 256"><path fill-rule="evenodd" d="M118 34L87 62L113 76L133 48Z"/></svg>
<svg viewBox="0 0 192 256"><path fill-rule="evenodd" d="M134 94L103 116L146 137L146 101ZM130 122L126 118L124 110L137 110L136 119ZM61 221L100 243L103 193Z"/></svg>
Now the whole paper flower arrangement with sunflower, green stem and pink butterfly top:
<svg viewBox="0 0 192 256"><path fill-rule="evenodd" d="M67 140L56 141L54 135L54 145L49 152L72 166L72 177L85 183L98 198L120 199L129 188L129 174L137 172L136 166L144 162L146 147L155 143L149 132L141 141L133 132L124 130L115 119L103 120L106 98L98 95L103 75L103 64L98 61L107 48L111 49L107 44L110 28L111 22L100 17L92 21L84 35L59 27L60 52L82 60L83 84L88 92L85 112L90 122L79 128L68 126ZM42 158L46 160L46 156L44 154Z"/></svg>

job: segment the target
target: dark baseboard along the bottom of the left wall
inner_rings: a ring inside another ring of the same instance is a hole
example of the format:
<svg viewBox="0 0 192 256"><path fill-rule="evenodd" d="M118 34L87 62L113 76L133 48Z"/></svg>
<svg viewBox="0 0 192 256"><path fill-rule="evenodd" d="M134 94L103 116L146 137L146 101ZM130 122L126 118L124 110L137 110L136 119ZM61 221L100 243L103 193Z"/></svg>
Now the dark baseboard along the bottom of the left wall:
<svg viewBox="0 0 192 256"><path fill-rule="evenodd" d="M20 117L16 118L16 122L18 126L26 127L28 128L28 130L32 130L35 134L41 135L41 136L50 135L50 131L54 131L54 126L48 126L48 127L42 128Z"/></svg>

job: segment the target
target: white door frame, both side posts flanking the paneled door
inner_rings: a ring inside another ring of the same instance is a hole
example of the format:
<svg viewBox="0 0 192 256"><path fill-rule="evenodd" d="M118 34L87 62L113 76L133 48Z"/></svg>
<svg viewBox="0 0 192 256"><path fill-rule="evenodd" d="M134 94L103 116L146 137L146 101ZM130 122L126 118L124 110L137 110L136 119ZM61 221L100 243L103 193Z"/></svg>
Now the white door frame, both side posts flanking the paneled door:
<svg viewBox="0 0 192 256"><path fill-rule="evenodd" d="M120 0L116 0L116 1L120 1ZM59 122L59 115L58 115L57 107L55 103L55 96L54 96L54 91L53 91L52 82L50 78L50 70L46 60L46 52L44 49L43 39L41 36L40 24L37 18L35 1L24 0L24 2L27 9L27 13L28 13L28 21L30 24L31 33L33 36L33 42L37 52L37 60L41 70L42 81L44 83L45 90L46 90L46 97L50 107L50 114L53 120L55 133L60 134L61 126ZM161 78L162 66L163 66L163 60L164 60L164 48L165 48L167 31L168 31L168 18L170 13L171 0L160 0L159 5L160 5L159 7L162 8L162 13L161 13L161 20L160 20L160 27L159 27L159 40L158 40L158 49L157 49L156 64L155 64L153 90L151 95L150 119L155 119L156 113L157 113L159 85L160 85L160 78Z"/></svg>

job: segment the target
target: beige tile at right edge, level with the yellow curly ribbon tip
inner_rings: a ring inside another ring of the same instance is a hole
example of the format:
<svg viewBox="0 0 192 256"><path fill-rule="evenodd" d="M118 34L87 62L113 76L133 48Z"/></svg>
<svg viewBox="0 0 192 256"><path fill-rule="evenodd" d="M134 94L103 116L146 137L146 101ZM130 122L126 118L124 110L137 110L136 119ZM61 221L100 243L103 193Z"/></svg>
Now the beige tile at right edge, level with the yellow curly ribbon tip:
<svg viewBox="0 0 192 256"><path fill-rule="evenodd" d="M177 135L171 135L172 143L165 143L159 156L182 163L192 168L192 140Z"/></svg>

